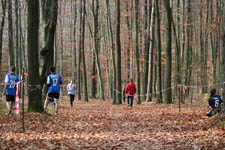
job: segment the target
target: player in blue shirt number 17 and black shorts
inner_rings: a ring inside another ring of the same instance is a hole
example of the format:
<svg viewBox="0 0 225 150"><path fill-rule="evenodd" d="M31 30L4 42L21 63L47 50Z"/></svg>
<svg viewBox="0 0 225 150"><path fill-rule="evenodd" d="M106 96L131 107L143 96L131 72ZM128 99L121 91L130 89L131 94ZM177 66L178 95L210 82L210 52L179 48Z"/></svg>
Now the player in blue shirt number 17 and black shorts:
<svg viewBox="0 0 225 150"><path fill-rule="evenodd" d="M47 97L45 99L44 108L47 108L49 99L53 99L55 103L55 110L58 113L58 103L60 94L60 84L62 84L62 79L60 74L55 73L55 67L50 67L50 75L47 78L47 85L49 87Z"/></svg>

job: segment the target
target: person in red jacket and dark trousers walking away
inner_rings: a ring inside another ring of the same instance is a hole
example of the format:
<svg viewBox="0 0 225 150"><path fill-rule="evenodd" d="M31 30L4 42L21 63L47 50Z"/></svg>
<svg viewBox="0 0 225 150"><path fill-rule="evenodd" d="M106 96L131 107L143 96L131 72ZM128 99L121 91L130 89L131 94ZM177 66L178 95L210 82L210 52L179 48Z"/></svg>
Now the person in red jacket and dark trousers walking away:
<svg viewBox="0 0 225 150"><path fill-rule="evenodd" d="M134 94L136 93L136 85L134 84L133 79L130 79L130 82L127 84L125 93L127 96L128 107L132 107Z"/></svg>

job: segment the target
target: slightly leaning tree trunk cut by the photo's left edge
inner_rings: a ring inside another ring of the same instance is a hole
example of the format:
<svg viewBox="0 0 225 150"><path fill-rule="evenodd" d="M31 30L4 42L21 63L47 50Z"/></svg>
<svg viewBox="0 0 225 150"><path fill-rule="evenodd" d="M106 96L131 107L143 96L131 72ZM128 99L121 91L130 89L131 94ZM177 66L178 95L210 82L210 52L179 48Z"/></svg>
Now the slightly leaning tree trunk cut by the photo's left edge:
<svg viewBox="0 0 225 150"><path fill-rule="evenodd" d="M5 25L5 13L6 13L6 4L7 0L1 0L2 3L2 17L0 22L0 71L1 71L1 64L2 64L2 38L3 38L3 31Z"/></svg>

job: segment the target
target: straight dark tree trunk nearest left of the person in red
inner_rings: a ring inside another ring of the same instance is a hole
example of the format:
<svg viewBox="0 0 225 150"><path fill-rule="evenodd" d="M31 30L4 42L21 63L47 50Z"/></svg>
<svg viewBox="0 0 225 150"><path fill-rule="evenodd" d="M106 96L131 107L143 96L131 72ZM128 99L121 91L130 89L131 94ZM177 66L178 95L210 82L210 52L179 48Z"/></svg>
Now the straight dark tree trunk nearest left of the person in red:
<svg viewBox="0 0 225 150"><path fill-rule="evenodd" d="M117 50L117 99L116 104L122 104L121 87L121 43L120 43L120 0L116 0L116 50Z"/></svg>

